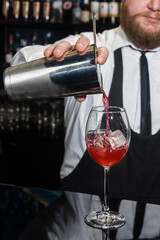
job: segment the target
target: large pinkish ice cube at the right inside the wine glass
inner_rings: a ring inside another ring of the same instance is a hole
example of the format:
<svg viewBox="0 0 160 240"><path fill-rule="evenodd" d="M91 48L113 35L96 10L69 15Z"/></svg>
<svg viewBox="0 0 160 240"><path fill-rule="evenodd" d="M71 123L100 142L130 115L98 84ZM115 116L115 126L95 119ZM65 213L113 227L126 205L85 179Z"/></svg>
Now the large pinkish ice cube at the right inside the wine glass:
<svg viewBox="0 0 160 240"><path fill-rule="evenodd" d="M126 138L120 130L116 130L108 134L108 141L112 149L120 148L126 144Z"/></svg>

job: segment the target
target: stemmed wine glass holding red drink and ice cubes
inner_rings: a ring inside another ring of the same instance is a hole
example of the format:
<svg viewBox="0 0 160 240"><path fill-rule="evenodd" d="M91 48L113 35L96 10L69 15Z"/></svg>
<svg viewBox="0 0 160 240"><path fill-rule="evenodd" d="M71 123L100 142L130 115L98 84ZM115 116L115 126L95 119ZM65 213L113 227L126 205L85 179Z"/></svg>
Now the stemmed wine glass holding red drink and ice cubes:
<svg viewBox="0 0 160 240"><path fill-rule="evenodd" d="M124 108L93 107L86 124L87 150L93 160L104 168L104 203L102 210L93 211L85 222L95 228L117 229L126 222L125 217L109 210L108 173L126 154L130 143L130 126Z"/></svg>

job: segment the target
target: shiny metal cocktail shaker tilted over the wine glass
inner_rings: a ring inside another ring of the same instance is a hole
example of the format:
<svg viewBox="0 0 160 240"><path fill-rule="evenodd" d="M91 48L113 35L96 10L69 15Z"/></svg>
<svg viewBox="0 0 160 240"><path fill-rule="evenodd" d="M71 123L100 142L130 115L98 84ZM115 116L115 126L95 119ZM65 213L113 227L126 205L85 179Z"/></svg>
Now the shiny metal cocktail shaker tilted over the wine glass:
<svg viewBox="0 0 160 240"><path fill-rule="evenodd" d="M3 74L4 87L13 100L44 99L102 92L96 46L86 54L70 51L63 61L41 58L9 67Z"/></svg>

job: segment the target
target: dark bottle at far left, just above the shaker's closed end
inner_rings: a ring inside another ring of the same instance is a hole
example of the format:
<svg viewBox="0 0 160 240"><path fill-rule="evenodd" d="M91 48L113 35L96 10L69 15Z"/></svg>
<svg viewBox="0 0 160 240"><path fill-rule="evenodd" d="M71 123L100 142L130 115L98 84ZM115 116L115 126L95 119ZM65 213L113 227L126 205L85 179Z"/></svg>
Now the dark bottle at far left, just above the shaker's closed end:
<svg viewBox="0 0 160 240"><path fill-rule="evenodd" d="M9 67L14 56L13 51L13 34L9 34L8 48L5 52L5 68Z"/></svg>

